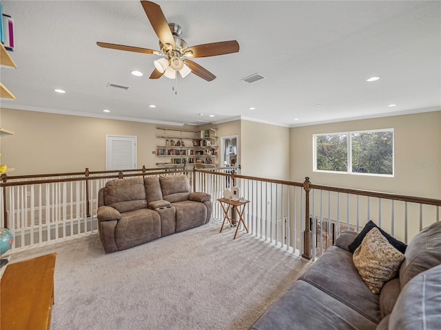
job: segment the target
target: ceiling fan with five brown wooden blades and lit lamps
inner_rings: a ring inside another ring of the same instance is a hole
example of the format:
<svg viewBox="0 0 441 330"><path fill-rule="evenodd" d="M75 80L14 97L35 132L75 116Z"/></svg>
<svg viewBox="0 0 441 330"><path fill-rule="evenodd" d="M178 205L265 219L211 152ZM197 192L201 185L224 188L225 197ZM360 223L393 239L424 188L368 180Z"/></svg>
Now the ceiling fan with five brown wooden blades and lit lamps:
<svg viewBox="0 0 441 330"><path fill-rule="evenodd" d="M97 42L96 45L113 50L125 50L127 52L138 52L144 54L156 54L162 57L154 61L155 69L150 75L150 79L158 79L161 76L167 78L176 78L176 72L179 72L184 78L192 72L207 81L212 81L216 76L201 65L190 61L188 58L208 57L223 54L231 54L239 51L239 44L236 40L220 41L218 43L205 43L188 47L187 43L180 38L182 28L176 23L167 23L161 7L151 1L141 1L147 18L152 24L152 28L159 39L158 50L149 50L147 48L132 47L125 45L116 45L114 43Z"/></svg>

